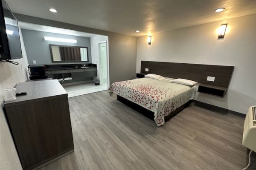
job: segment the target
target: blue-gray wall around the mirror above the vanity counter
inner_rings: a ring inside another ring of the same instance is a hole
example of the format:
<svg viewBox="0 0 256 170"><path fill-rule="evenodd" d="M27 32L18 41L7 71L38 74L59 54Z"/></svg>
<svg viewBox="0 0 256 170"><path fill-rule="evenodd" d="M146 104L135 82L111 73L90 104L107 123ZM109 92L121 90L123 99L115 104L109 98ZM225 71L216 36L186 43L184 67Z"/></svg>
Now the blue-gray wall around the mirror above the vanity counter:
<svg viewBox="0 0 256 170"><path fill-rule="evenodd" d="M88 47L89 62L86 62L86 63L91 63L90 38L78 37L73 35L55 34L50 32L43 32L43 31L33 31L33 30L27 30L27 29L21 29L21 32L23 35L23 40L24 40L29 64L33 64L33 60L36 60L37 64L54 64L54 63L61 64L61 62L52 62L49 44ZM77 40L77 43L45 41L44 36L75 39ZM74 64L74 63L85 63L85 62L62 62L62 63Z"/></svg>

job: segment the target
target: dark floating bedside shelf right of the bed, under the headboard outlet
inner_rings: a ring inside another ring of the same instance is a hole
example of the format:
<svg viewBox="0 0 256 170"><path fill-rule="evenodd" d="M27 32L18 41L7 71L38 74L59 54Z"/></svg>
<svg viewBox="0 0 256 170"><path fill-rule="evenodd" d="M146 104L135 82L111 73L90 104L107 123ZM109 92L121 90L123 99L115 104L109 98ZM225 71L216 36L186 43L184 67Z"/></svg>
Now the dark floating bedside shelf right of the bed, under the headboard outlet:
<svg viewBox="0 0 256 170"><path fill-rule="evenodd" d="M214 85L199 84L198 92L218 97L224 97L226 95L227 88Z"/></svg>

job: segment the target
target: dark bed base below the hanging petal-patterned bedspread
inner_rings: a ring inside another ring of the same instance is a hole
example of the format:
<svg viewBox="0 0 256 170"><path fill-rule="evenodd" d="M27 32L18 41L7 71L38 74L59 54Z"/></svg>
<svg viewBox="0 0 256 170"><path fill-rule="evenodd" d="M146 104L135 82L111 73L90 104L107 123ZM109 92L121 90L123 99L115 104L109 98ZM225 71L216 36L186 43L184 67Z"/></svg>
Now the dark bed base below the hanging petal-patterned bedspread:
<svg viewBox="0 0 256 170"><path fill-rule="evenodd" d="M140 105L137 105L134 102L131 102L128 99L123 98L122 96L116 95L116 99L120 102L122 102L123 104L129 106L130 108L134 109L135 111L143 114L144 116L148 117L151 120L154 120L154 112L149 111L146 108L143 108ZM189 102L186 102L184 105L180 106L179 108L177 108L175 111L171 112L168 116L165 116L164 119L165 121L167 121L168 119L172 118L173 116L175 116L177 113L179 113L180 111L182 111L184 108L186 108L190 103L192 102L192 100L190 100Z"/></svg>

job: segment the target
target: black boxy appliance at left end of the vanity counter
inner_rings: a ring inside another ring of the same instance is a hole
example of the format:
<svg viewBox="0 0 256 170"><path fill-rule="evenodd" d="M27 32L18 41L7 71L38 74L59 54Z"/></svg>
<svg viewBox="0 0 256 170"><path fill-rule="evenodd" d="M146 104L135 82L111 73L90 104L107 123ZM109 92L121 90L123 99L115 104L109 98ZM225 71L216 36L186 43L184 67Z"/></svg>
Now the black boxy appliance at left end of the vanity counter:
<svg viewBox="0 0 256 170"><path fill-rule="evenodd" d="M47 79L48 74L45 73L46 68L44 65L29 65L29 79Z"/></svg>

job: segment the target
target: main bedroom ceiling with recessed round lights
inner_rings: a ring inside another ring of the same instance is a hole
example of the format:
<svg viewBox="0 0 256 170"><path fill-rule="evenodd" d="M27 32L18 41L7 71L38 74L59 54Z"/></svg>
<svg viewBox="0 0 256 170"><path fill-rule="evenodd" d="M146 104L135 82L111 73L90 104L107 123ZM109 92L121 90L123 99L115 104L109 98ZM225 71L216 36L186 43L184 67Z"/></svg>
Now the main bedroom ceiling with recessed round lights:
<svg viewBox="0 0 256 170"><path fill-rule="evenodd" d="M13 12L131 36L256 13L256 0L6 0ZM225 7L221 13L214 9ZM55 8L58 13L52 13ZM140 33L135 33L140 30Z"/></svg>

